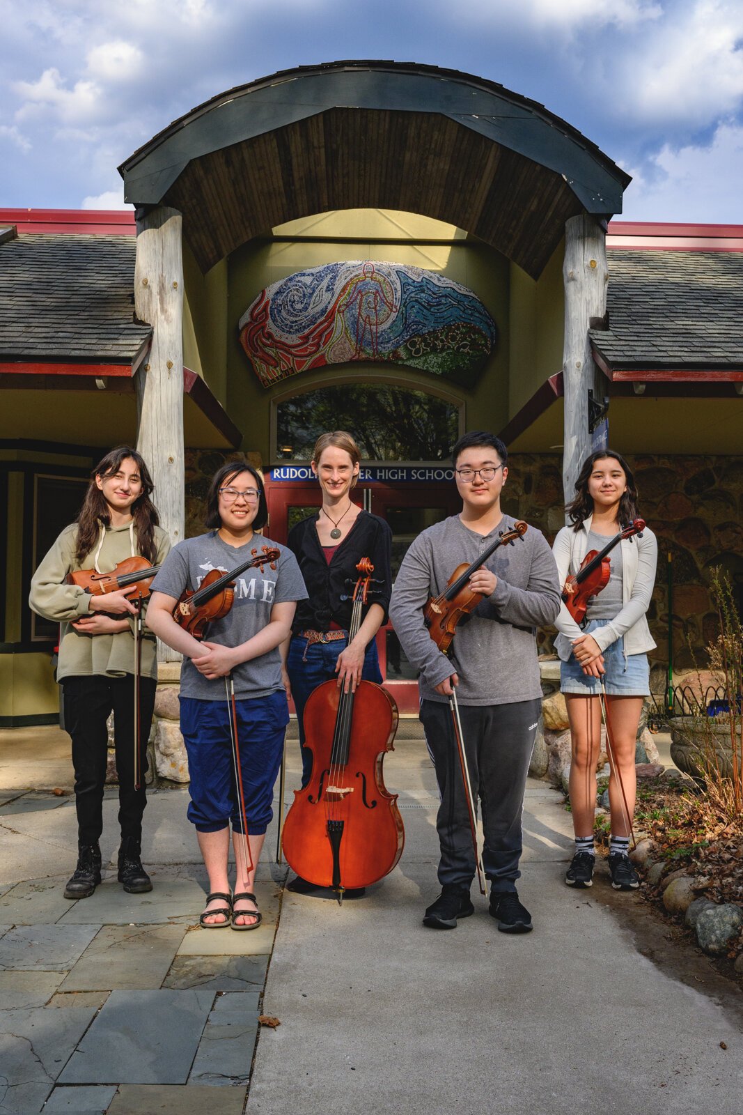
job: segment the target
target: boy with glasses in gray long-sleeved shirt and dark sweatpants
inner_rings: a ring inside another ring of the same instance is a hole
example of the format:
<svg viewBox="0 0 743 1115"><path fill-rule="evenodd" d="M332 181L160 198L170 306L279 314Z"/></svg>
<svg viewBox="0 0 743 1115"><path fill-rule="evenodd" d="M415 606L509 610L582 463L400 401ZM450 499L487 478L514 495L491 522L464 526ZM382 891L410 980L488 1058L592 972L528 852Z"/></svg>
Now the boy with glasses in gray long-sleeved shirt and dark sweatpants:
<svg viewBox="0 0 743 1115"><path fill-rule="evenodd" d="M524 791L541 709L536 628L560 607L557 566L544 535L529 527L500 546L470 578L482 594L460 621L449 656L423 620L429 597L447 588L457 565L472 564L515 520L500 510L508 450L485 432L466 434L452 449L462 511L430 526L412 543L398 573L390 619L409 660L420 670L420 718L441 793L437 830L441 894L423 924L454 929L475 912L469 890L476 862L467 797L457 756L452 686L460 706L472 796L482 807L482 864L490 880L490 913L506 933L526 933L531 917L519 902ZM477 807L477 805L476 805Z"/></svg>

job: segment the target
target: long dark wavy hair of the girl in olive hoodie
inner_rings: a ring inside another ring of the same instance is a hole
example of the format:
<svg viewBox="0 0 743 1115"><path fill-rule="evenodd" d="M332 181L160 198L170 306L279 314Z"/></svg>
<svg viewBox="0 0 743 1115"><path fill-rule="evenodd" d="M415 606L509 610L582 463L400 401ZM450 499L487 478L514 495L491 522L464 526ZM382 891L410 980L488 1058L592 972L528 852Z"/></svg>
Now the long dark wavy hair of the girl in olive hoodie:
<svg viewBox="0 0 743 1115"><path fill-rule="evenodd" d="M145 464L141 454L137 453L129 445L117 445L115 449L107 453L98 462L90 473L90 483L85 494L82 506L77 516L77 549L75 556L82 561L97 544L100 536L100 524L109 526L111 516L104 493L96 484L96 477L105 479L107 476L116 476L123 463L131 458L139 471L141 479L141 492L131 504L131 516L134 518L134 530L137 535L137 549L143 558L154 564L157 556L157 545L155 543L155 527L159 526L160 516L157 507L149 498L155 485L149 475L149 469Z"/></svg>

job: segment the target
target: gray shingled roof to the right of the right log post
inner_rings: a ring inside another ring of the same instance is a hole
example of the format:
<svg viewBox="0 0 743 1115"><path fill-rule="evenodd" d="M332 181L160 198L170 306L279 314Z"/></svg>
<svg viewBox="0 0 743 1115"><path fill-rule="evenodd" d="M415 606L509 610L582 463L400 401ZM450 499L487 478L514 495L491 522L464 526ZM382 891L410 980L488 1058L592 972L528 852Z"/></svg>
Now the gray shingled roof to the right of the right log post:
<svg viewBox="0 0 743 1115"><path fill-rule="evenodd" d="M609 369L743 368L743 253L609 250Z"/></svg>

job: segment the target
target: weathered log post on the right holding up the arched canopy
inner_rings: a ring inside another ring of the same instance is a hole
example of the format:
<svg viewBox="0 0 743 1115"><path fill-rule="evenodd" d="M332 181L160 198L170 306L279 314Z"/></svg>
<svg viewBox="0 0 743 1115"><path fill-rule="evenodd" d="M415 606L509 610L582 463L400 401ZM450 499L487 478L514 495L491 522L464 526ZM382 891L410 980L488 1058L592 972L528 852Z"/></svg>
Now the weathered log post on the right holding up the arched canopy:
<svg viewBox="0 0 743 1115"><path fill-rule="evenodd" d="M575 482L590 453L588 389L598 400L604 396L603 377L594 363L588 341L592 318L606 313L606 234L595 216L571 216L565 225L565 346L563 389L565 392L565 438L563 446L563 492L565 502L575 497Z"/></svg>

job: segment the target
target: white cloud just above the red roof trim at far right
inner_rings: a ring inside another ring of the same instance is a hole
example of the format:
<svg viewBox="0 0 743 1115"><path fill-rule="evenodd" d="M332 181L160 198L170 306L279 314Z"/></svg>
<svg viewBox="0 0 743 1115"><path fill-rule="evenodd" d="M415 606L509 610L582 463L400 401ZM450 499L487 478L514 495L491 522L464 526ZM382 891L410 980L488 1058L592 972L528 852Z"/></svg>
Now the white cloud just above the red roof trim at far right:
<svg viewBox="0 0 743 1115"><path fill-rule="evenodd" d="M666 144L630 174L622 221L743 223L743 125L722 124L707 147Z"/></svg>

